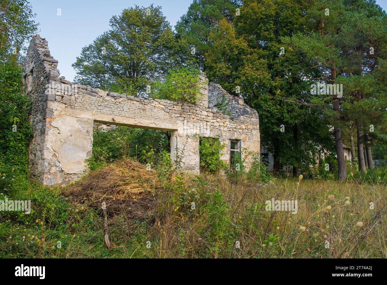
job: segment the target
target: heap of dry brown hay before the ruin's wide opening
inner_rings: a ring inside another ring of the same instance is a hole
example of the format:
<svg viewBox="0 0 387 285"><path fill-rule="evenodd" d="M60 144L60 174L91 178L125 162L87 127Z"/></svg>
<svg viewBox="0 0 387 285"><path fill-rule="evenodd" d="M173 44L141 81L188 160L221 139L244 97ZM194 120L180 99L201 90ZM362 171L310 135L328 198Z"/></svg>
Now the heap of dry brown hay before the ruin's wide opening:
<svg viewBox="0 0 387 285"><path fill-rule="evenodd" d="M72 202L96 209L106 203L109 216L142 219L156 207L155 193L161 187L154 170L124 158L87 174L84 180L63 189Z"/></svg>

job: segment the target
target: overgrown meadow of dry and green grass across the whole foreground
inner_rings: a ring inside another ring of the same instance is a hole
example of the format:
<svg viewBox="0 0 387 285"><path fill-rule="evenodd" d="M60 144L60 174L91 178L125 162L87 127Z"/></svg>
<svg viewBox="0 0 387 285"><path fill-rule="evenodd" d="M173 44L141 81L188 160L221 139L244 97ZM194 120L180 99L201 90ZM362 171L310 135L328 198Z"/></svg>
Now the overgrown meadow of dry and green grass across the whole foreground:
<svg viewBox="0 0 387 285"><path fill-rule="evenodd" d="M149 216L110 217L111 250L100 209L70 202L59 187L24 185L33 211L0 213L0 257L387 258L386 185L378 183L178 176L154 193ZM266 211L273 198L297 200L297 213Z"/></svg>

